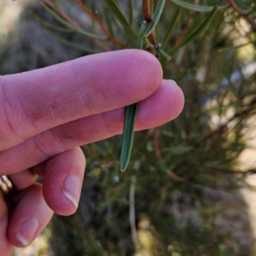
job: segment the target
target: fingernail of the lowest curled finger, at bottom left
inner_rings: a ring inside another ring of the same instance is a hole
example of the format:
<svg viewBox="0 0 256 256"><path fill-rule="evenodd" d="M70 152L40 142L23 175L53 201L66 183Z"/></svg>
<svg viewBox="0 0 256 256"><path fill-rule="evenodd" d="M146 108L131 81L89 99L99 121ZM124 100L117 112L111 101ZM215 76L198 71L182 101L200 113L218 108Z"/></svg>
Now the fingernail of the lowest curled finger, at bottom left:
<svg viewBox="0 0 256 256"><path fill-rule="evenodd" d="M22 224L17 238L24 246L28 246L33 241L38 230L38 225L39 222L37 218L27 218Z"/></svg>

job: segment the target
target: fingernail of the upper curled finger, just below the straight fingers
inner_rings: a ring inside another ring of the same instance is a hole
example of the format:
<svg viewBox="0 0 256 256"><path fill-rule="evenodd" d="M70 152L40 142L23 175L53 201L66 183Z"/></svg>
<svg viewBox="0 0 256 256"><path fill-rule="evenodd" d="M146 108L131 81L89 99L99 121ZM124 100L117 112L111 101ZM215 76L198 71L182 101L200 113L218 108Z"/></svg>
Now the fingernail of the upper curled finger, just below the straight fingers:
<svg viewBox="0 0 256 256"><path fill-rule="evenodd" d="M63 194L69 201L72 201L73 205L79 207L79 192L80 192L80 180L74 175L68 175L62 187Z"/></svg>

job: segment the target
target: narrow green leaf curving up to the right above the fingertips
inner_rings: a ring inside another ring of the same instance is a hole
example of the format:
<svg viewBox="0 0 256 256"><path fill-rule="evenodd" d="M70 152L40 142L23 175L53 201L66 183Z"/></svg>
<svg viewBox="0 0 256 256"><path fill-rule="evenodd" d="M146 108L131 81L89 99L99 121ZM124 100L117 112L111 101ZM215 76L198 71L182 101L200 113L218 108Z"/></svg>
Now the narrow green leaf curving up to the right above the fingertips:
<svg viewBox="0 0 256 256"><path fill-rule="evenodd" d="M183 46L193 42L196 38L198 38L201 35L201 33L207 29L207 27L212 22L212 19L217 14L217 12L218 12L218 6L214 7L214 9L212 9L212 12L209 15L207 15L207 19L202 22L201 26L199 26L193 33L191 33L189 35L189 37L185 38L181 42L181 44L177 45L177 47L168 50L167 53L170 54L171 52L182 48Z"/></svg>

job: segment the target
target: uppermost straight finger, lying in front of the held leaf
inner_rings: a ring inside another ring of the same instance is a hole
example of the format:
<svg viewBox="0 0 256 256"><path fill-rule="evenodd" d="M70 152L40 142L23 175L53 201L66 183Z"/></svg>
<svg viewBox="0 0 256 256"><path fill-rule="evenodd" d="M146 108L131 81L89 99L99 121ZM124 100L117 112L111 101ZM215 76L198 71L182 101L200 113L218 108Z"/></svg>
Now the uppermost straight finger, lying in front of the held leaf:
<svg viewBox="0 0 256 256"><path fill-rule="evenodd" d="M159 61L136 49L2 77L0 150L57 125L142 101L161 79Z"/></svg>

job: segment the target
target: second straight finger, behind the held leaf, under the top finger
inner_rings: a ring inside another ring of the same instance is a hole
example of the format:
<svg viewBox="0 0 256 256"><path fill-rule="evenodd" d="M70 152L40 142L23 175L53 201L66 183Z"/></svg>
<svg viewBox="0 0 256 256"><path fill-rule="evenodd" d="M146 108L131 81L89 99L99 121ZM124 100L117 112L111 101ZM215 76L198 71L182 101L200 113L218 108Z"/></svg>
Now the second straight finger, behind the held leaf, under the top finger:
<svg viewBox="0 0 256 256"><path fill-rule="evenodd" d="M136 129L149 129L174 119L183 109L183 93L172 81L163 81L160 89L140 102ZM0 153L0 172L19 172L78 145L93 143L122 132L124 109L60 125Z"/></svg>

